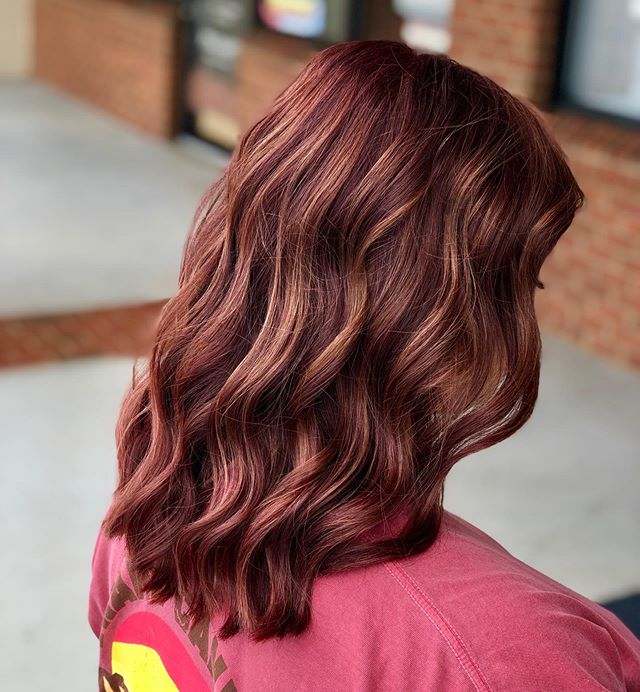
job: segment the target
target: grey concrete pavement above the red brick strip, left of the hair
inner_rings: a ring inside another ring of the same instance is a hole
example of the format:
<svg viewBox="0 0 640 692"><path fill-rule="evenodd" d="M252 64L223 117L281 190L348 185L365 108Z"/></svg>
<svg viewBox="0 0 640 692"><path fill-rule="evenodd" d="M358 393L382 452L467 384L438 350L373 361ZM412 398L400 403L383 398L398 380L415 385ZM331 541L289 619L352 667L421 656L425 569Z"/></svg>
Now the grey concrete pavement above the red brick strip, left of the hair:
<svg viewBox="0 0 640 692"><path fill-rule="evenodd" d="M158 300L223 159L0 80L0 317Z"/></svg>

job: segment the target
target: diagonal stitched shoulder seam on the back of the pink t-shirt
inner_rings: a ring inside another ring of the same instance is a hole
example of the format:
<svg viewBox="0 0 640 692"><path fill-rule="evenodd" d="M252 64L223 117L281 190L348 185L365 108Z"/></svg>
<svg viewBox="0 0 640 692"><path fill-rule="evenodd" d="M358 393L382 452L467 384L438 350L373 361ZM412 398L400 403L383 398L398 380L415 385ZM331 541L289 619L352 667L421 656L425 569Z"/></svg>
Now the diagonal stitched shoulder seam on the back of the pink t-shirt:
<svg viewBox="0 0 640 692"><path fill-rule="evenodd" d="M438 634L456 657L456 660L469 678L473 687L478 692L491 692L491 687L480 671L478 664L469 653L462 637L460 637L453 625L444 618L431 599L420 589L407 572L402 569L396 560L386 562L385 567L398 584L400 584L402 589L409 595L411 600L427 616L429 622L437 630Z"/></svg>

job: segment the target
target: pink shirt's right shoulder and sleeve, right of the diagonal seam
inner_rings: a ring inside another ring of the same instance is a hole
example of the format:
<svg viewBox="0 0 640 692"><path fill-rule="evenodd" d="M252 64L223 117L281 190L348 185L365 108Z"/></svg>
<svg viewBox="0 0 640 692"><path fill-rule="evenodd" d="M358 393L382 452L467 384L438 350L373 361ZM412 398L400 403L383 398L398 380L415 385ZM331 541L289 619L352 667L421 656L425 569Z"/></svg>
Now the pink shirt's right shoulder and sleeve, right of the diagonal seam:
<svg viewBox="0 0 640 692"><path fill-rule="evenodd" d="M456 515L387 570L477 689L640 689L640 642L613 614Z"/></svg>

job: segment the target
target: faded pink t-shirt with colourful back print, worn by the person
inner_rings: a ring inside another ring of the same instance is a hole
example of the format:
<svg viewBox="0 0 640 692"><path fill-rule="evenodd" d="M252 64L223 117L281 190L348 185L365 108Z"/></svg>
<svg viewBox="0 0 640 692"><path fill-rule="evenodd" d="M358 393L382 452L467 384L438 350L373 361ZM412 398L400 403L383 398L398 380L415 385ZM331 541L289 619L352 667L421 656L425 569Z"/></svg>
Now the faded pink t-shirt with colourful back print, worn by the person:
<svg viewBox="0 0 640 692"><path fill-rule="evenodd" d="M101 690L640 690L640 641L620 620L449 512L424 553L319 578L312 613L299 637L190 632L179 602L135 593L121 539L98 536Z"/></svg>

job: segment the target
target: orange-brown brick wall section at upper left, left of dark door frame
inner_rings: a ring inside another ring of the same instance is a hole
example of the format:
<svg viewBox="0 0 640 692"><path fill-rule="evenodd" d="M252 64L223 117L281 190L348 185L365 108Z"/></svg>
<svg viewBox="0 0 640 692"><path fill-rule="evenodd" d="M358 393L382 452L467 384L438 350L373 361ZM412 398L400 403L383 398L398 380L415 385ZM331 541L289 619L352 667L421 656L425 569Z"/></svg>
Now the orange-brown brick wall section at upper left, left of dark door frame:
<svg viewBox="0 0 640 692"><path fill-rule="evenodd" d="M178 113L179 26L169 3L36 0L35 74L170 137Z"/></svg>

